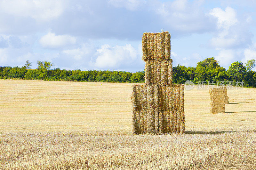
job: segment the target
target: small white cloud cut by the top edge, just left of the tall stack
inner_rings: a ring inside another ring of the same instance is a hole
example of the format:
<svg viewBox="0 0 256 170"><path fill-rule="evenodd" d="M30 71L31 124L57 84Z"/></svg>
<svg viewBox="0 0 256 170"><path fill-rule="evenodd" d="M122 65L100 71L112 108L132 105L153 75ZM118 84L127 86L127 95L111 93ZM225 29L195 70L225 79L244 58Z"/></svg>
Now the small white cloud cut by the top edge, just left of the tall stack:
<svg viewBox="0 0 256 170"><path fill-rule="evenodd" d="M128 10L137 10L139 6L146 3L144 0L109 0L108 3L117 8L126 8Z"/></svg>

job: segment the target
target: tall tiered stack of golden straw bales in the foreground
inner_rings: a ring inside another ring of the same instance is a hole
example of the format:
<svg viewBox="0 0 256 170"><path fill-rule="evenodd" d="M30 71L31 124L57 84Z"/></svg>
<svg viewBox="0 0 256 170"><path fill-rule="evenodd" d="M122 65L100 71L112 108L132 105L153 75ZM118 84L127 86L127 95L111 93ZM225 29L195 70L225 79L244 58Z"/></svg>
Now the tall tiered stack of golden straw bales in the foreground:
<svg viewBox="0 0 256 170"><path fill-rule="evenodd" d="M184 86L172 85L168 32L143 33L145 85L132 87L133 132L184 133Z"/></svg>

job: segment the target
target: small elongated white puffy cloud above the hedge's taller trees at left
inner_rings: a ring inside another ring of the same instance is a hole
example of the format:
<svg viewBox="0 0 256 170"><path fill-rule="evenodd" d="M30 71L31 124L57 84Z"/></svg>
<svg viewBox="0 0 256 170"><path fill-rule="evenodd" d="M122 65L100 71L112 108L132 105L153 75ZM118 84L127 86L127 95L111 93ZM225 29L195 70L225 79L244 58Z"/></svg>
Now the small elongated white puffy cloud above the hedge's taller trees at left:
<svg viewBox="0 0 256 170"><path fill-rule="evenodd" d="M41 37L39 40L43 47L60 48L76 43L76 38L70 35L55 35L52 32Z"/></svg>

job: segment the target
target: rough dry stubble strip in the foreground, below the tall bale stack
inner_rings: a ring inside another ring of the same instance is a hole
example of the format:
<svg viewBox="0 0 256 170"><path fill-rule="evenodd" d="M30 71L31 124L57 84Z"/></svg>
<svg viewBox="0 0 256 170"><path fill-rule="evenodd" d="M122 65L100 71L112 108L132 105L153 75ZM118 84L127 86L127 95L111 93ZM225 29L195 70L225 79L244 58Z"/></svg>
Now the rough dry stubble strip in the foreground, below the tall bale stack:
<svg viewBox="0 0 256 170"><path fill-rule="evenodd" d="M186 133L3 132L0 169L256 168L255 131Z"/></svg>

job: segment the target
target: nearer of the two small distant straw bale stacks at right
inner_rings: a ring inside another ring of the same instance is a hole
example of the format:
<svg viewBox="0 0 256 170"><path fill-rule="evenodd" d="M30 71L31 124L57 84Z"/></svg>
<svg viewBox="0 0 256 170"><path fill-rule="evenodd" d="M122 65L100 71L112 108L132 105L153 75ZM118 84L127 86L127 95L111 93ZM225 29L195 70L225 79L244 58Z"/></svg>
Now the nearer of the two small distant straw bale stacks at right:
<svg viewBox="0 0 256 170"><path fill-rule="evenodd" d="M211 113L225 113L226 88L209 89L211 99Z"/></svg>

